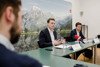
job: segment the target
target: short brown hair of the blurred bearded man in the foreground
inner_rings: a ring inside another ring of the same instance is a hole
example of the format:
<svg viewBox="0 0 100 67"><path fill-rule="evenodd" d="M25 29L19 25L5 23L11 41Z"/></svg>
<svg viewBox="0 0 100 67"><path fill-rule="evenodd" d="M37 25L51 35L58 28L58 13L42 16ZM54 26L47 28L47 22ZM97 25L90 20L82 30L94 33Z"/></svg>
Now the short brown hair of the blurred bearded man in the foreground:
<svg viewBox="0 0 100 67"><path fill-rule="evenodd" d="M21 0L0 0L0 19L3 12L7 7L11 6L13 8L13 13L15 17L18 17L19 6L21 6Z"/></svg>

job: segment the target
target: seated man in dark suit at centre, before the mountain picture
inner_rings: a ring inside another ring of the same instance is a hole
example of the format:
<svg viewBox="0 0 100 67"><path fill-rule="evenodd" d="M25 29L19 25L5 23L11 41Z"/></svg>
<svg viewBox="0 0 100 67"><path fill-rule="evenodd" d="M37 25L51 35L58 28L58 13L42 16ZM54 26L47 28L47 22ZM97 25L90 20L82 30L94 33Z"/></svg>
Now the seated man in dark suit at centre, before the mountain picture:
<svg viewBox="0 0 100 67"><path fill-rule="evenodd" d="M53 45L59 45L64 41L57 40L57 33L54 30L55 27L55 19L49 18L47 20L47 28L42 30L39 35L39 47L49 47Z"/></svg>

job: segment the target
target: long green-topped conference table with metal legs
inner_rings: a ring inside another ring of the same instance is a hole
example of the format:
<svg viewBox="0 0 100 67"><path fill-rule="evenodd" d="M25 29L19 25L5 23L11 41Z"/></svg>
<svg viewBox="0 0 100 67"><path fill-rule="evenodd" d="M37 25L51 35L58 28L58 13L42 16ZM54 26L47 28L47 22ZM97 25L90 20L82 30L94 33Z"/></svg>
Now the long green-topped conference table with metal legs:
<svg viewBox="0 0 100 67"><path fill-rule="evenodd" d="M74 45L75 42L69 42L65 43L65 45ZM96 62L96 47L97 44L89 42L86 44L81 44L81 49L77 51L70 50L68 48L66 49L57 49L54 47L46 47L46 48L39 48L36 50L31 50L27 52L22 52L22 54L26 54L32 58L37 59L39 62L41 62L43 65L50 66L50 67L74 67L75 64L84 64L88 67L100 67L99 65L86 63L78 60L68 59L64 58L63 56L74 54L78 51L84 50L88 47L94 47L94 61ZM52 51L47 51L46 49L52 49ZM94 62L94 63L95 63Z"/></svg>

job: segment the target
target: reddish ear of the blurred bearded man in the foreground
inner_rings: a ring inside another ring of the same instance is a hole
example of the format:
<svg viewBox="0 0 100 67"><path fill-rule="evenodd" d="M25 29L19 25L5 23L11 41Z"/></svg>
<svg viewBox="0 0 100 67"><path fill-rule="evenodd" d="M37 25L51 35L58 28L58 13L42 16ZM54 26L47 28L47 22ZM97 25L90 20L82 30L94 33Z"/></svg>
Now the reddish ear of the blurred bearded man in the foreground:
<svg viewBox="0 0 100 67"><path fill-rule="evenodd" d="M6 17L6 20L8 22L12 23L14 21L14 14L13 14L13 8L12 7L7 7L6 8L5 17Z"/></svg>

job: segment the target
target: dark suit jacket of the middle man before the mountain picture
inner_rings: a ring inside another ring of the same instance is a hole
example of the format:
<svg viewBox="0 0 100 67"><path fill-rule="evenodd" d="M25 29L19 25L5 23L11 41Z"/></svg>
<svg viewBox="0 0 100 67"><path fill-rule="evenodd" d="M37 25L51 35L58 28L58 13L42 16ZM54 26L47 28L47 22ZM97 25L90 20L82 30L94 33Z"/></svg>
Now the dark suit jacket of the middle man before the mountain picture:
<svg viewBox="0 0 100 67"><path fill-rule="evenodd" d="M54 38L57 39L56 31L54 31L53 33L54 33ZM52 40L48 28L40 32L38 44L40 48L52 46Z"/></svg>

